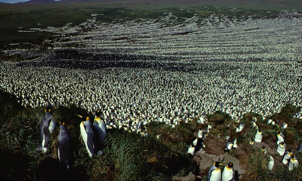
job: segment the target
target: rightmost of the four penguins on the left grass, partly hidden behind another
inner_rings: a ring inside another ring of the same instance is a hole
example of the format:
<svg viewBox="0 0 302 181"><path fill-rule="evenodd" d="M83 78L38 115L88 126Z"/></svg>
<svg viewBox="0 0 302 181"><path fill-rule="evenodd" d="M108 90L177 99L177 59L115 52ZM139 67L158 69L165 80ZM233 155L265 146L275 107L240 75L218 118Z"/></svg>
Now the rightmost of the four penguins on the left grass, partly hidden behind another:
<svg viewBox="0 0 302 181"><path fill-rule="evenodd" d="M94 120L94 127L97 133L97 154L100 155L103 153L102 149L105 146L105 140L107 135L107 129L105 122L101 119L101 110L95 112L95 120Z"/></svg>

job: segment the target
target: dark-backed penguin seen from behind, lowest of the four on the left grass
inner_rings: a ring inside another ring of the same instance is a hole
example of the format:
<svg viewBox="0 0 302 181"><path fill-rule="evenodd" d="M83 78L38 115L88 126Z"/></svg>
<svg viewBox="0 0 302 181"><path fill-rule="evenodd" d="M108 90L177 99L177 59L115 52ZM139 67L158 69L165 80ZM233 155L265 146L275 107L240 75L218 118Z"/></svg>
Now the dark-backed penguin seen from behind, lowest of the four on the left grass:
<svg viewBox="0 0 302 181"><path fill-rule="evenodd" d="M57 141L57 151L58 158L62 166L67 167L69 169L71 167L72 160L72 142L71 135L67 128L65 127L65 123L60 122L60 132L58 135Z"/></svg>

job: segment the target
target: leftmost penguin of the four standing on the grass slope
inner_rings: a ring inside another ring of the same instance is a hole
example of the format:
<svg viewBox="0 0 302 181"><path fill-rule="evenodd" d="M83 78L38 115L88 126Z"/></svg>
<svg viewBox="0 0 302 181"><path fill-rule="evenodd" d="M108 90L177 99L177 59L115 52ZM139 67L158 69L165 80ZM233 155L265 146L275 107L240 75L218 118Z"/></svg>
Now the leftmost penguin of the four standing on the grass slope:
<svg viewBox="0 0 302 181"><path fill-rule="evenodd" d="M45 110L38 130L38 148L37 151L45 153L48 150L48 141L51 133L55 129L55 120L51 112L51 107L47 107Z"/></svg>

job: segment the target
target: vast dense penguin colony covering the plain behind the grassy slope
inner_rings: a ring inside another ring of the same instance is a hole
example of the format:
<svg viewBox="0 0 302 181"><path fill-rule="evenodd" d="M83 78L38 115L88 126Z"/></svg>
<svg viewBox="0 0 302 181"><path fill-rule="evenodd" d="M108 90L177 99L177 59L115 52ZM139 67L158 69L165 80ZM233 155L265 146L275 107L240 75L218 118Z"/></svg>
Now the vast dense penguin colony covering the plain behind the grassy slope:
<svg viewBox="0 0 302 181"><path fill-rule="evenodd" d="M302 107L296 62L302 59L296 53L302 52L301 36L296 36L302 34L302 19L284 18L301 15L279 16L235 20L211 15L180 25L172 14L140 23L111 24L94 17L79 27L41 29L62 36L75 31L78 35L65 43L83 47L63 49L64 43L55 42L54 49L45 51L6 50L6 55L40 58L0 62L0 88L24 106L75 104L89 112L101 109L105 120L113 122L199 119L215 111L234 119L247 112L267 118L287 103ZM80 27L90 31L83 33ZM116 40L125 34L135 41Z"/></svg>

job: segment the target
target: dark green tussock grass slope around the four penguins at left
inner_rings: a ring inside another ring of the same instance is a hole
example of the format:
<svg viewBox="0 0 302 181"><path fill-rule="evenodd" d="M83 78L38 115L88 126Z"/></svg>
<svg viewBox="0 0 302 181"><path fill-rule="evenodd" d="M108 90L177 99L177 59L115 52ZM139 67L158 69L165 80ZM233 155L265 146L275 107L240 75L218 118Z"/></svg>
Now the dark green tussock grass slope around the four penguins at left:
<svg viewBox="0 0 302 181"><path fill-rule="evenodd" d="M54 108L57 125L59 121L65 122L74 149L72 169L62 169L56 157L59 129L51 135L48 151L36 152L37 128L44 108L24 108L11 95L3 92L0 95L0 166L5 168L0 176L3 179L171 180L173 175L184 176L198 170L186 154L184 140L173 145L174 138L157 140L154 136L146 138L122 130L110 130L105 154L90 158L80 137L80 119L74 114L92 115L75 105ZM177 129L179 135L186 135L193 127L181 124Z"/></svg>

